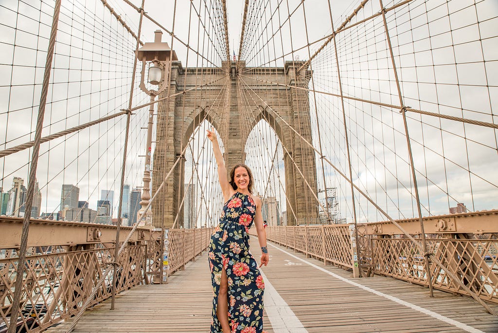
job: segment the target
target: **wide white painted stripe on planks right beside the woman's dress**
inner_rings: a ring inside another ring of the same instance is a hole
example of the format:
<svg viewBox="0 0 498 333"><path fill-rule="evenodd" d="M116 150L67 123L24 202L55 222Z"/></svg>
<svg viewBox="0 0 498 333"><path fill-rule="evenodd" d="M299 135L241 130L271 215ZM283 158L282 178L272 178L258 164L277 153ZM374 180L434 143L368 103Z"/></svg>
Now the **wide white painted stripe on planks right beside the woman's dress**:
<svg viewBox="0 0 498 333"><path fill-rule="evenodd" d="M280 294L273 288L263 271L259 269L259 272L264 279L264 312L268 316L273 332L308 333L289 305L285 303Z"/></svg>

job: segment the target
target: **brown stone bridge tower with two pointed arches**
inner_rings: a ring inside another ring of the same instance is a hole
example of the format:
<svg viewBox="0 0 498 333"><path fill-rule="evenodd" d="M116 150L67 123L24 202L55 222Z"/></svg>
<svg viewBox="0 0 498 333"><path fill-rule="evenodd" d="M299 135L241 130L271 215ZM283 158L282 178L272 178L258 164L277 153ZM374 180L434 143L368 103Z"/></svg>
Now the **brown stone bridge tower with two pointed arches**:
<svg viewBox="0 0 498 333"><path fill-rule="evenodd" d="M228 171L237 163L245 162L244 148L249 132L259 120L264 119L273 128L284 147L287 225L318 223L316 199L309 189L311 187L313 192L317 193L315 153L285 124L292 126L304 139L312 143L308 93L306 90L289 87L308 87L311 73L305 70L298 72L303 63L304 61L287 61L284 67L251 69L245 68L242 61L225 61L223 72L220 72L219 68L183 68L180 61L173 62L169 95L218 78L220 80L202 90L194 89L180 93L159 103L151 193L155 192L174 166L182 147L186 146L206 114L206 119L217 129L225 145L224 159ZM248 76L251 78L239 75L239 72L243 71L250 73ZM230 75L227 76L226 73ZM213 102L227 80L230 81L230 112L222 116L219 114L220 110L213 106ZM254 117L250 117L251 119L241 116L237 93L238 80L244 80L250 87L248 93L251 94L251 101L255 102L251 110ZM278 82L279 85L262 81ZM160 98L166 94L167 92ZM241 126L241 122L249 122L249 126ZM178 163L152 204L155 227L161 225L161 220L164 220L165 227L173 225L185 190L183 183L184 166L183 163ZM176 227L181 225L182 212L178 216Z"/></svg>

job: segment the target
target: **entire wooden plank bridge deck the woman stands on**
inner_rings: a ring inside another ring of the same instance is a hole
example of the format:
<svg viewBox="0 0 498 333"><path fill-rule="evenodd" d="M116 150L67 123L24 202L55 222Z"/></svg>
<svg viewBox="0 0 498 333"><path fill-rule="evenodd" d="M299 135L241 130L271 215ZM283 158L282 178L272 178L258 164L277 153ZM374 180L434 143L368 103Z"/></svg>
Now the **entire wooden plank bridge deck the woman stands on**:
<svg viewBox="0 0 498 333"><path fill-rule="evenodd" d="M283 247L270 244L268 250L263 273L269 333L498 332L498 319L470 298L439 291L429 298L417 285L384 277L354 279ZM110 301L96 306L74 332L207 332L212 292L206 253L169 281L123 292L115 311L109 310ZM47 332L65 332L67 325Z"/></svg>

